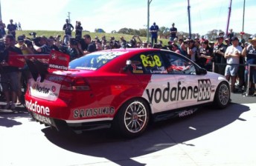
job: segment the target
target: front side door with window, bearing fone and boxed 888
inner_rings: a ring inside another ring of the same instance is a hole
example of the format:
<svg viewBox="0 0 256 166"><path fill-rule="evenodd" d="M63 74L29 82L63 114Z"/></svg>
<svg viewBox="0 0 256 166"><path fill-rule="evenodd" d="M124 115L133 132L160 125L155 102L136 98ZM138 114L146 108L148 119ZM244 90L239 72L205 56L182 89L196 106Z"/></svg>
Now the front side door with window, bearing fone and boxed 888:
<svg viewBox="0 0 256 166"><path fill-rule="evenodd" d="M177 107L189 107L211 99L211 80L207 75L196 74L196 64L179 54L166 52L167 73L176 78Z"/></svg>

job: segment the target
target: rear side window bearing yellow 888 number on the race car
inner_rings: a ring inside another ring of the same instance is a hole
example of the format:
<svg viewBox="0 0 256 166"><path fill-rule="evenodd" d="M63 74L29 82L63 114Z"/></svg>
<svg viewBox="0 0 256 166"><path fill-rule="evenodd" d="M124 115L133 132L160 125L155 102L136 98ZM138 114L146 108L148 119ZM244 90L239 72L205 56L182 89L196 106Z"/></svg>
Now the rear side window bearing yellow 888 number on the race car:
<svg viewBox="0 0 256 166"><path fill-rule="evenodd" d="M167 69L159 53L140 53L130 60L132 61L132 73L167 74Z"/></svg>

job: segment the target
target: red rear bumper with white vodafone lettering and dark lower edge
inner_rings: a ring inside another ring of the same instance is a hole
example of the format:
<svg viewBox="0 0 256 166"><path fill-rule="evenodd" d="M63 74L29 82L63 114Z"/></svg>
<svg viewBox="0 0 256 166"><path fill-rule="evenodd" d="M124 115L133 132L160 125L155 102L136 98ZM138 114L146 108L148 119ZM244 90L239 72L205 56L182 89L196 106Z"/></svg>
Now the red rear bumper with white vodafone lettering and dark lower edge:
<svg viewBox="0 0 256 166"><path fill-rule="evenodd" d="M112 118L74 119L71 105L60 99L55 102L25 96L27 110L33 119L45 126L57 128L59 131L73 130L80 133L83 130L97 130L111 127Z"/></svg>

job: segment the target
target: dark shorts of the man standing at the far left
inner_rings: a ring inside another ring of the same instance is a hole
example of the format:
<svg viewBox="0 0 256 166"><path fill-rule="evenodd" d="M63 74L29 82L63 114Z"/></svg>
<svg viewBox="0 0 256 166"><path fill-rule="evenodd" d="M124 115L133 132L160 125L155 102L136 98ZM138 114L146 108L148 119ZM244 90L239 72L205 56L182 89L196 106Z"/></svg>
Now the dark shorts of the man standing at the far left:
<svg viewBox="0 0 256 166"><path fill-rule="evenodd" d="M1 73L1 87L4 92L10 90L17 93L19 90L18 72Z"/></svg>

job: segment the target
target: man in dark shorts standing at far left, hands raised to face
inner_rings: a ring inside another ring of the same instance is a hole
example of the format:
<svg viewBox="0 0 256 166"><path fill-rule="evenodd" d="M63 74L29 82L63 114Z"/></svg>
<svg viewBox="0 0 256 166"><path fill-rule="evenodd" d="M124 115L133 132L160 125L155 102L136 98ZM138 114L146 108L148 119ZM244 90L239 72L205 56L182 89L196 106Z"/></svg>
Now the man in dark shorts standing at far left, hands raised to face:
<svg viewBox="0 0 256 166"><path fill-rule="evenodd" d="M4 44L6 49L0 56L1 62L1 86L4 91L4 96L7 104L4 106L5 110L16 108L16 98L19 92L19 78L18 78L18 67L9 66L7 64L9 55L11 52L22 54L22 50L15 47L15 38L12 35L4 37ZM10 82L9 84L7 82ZM11 99L10 99L11 98ZM10 102L11 101L11 102Z"/></svg>

